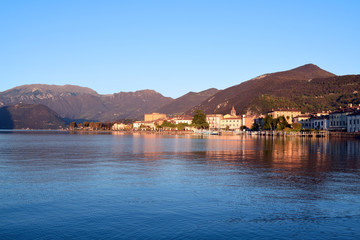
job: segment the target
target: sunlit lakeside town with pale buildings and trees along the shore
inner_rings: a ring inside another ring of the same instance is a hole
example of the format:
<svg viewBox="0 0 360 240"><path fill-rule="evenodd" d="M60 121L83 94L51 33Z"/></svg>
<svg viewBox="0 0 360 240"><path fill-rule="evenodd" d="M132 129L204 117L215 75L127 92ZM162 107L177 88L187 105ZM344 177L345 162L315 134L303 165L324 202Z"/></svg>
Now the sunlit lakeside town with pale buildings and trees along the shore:
<svg viewBox="0 0 360 240"><path fill-rule="evenodd" d="M195 111L193 116L167 116L163 113L144 115L143 121L72 122L71 131L121 131L166 134L211 135L299 135L299 136L358 136L360 105L348 104L336 111L302 113L298 109L272 109L266 114L237 115L235 107L229 114L205 114Z"/></svg>

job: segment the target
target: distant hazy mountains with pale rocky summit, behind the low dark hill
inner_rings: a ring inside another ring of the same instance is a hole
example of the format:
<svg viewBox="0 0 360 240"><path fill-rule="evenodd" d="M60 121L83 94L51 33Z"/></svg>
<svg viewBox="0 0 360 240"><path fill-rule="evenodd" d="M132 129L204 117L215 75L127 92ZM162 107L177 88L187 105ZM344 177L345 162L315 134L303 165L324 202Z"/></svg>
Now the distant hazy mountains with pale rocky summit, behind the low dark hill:
<svg viewBox="0 0 360 240"><path fill-rule="evenodd" d="M73 85L23 85L0 93L0 106L18 103L43 104L67 119L115 121L142 119L144 113L173 100L153 90L100 95Z"/></svg>

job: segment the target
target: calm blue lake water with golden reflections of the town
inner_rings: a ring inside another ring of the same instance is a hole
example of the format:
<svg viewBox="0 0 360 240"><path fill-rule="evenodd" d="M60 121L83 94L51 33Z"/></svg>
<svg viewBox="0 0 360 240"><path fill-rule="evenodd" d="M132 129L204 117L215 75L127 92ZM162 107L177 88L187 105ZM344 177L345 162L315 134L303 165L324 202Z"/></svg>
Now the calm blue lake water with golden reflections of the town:
<svg viewBox="0 0 360 240"><path fill-rule="evenodd" d="M0 239L360 239L360 141L0 132Z"/></svg>

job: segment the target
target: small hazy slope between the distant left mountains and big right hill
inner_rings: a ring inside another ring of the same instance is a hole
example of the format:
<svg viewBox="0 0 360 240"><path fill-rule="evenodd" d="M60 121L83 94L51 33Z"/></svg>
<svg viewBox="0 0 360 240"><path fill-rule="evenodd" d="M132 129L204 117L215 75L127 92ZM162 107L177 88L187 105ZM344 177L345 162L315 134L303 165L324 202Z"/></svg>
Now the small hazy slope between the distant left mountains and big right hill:
<svg viewBox="0 0 360 240"><path fill-rule="evenodd" d="M161 106L156 111L166 114L181 114L213 96L217 92L219 92L219 90L216 88L210 88L202 92L189 92Z"/></svg>

